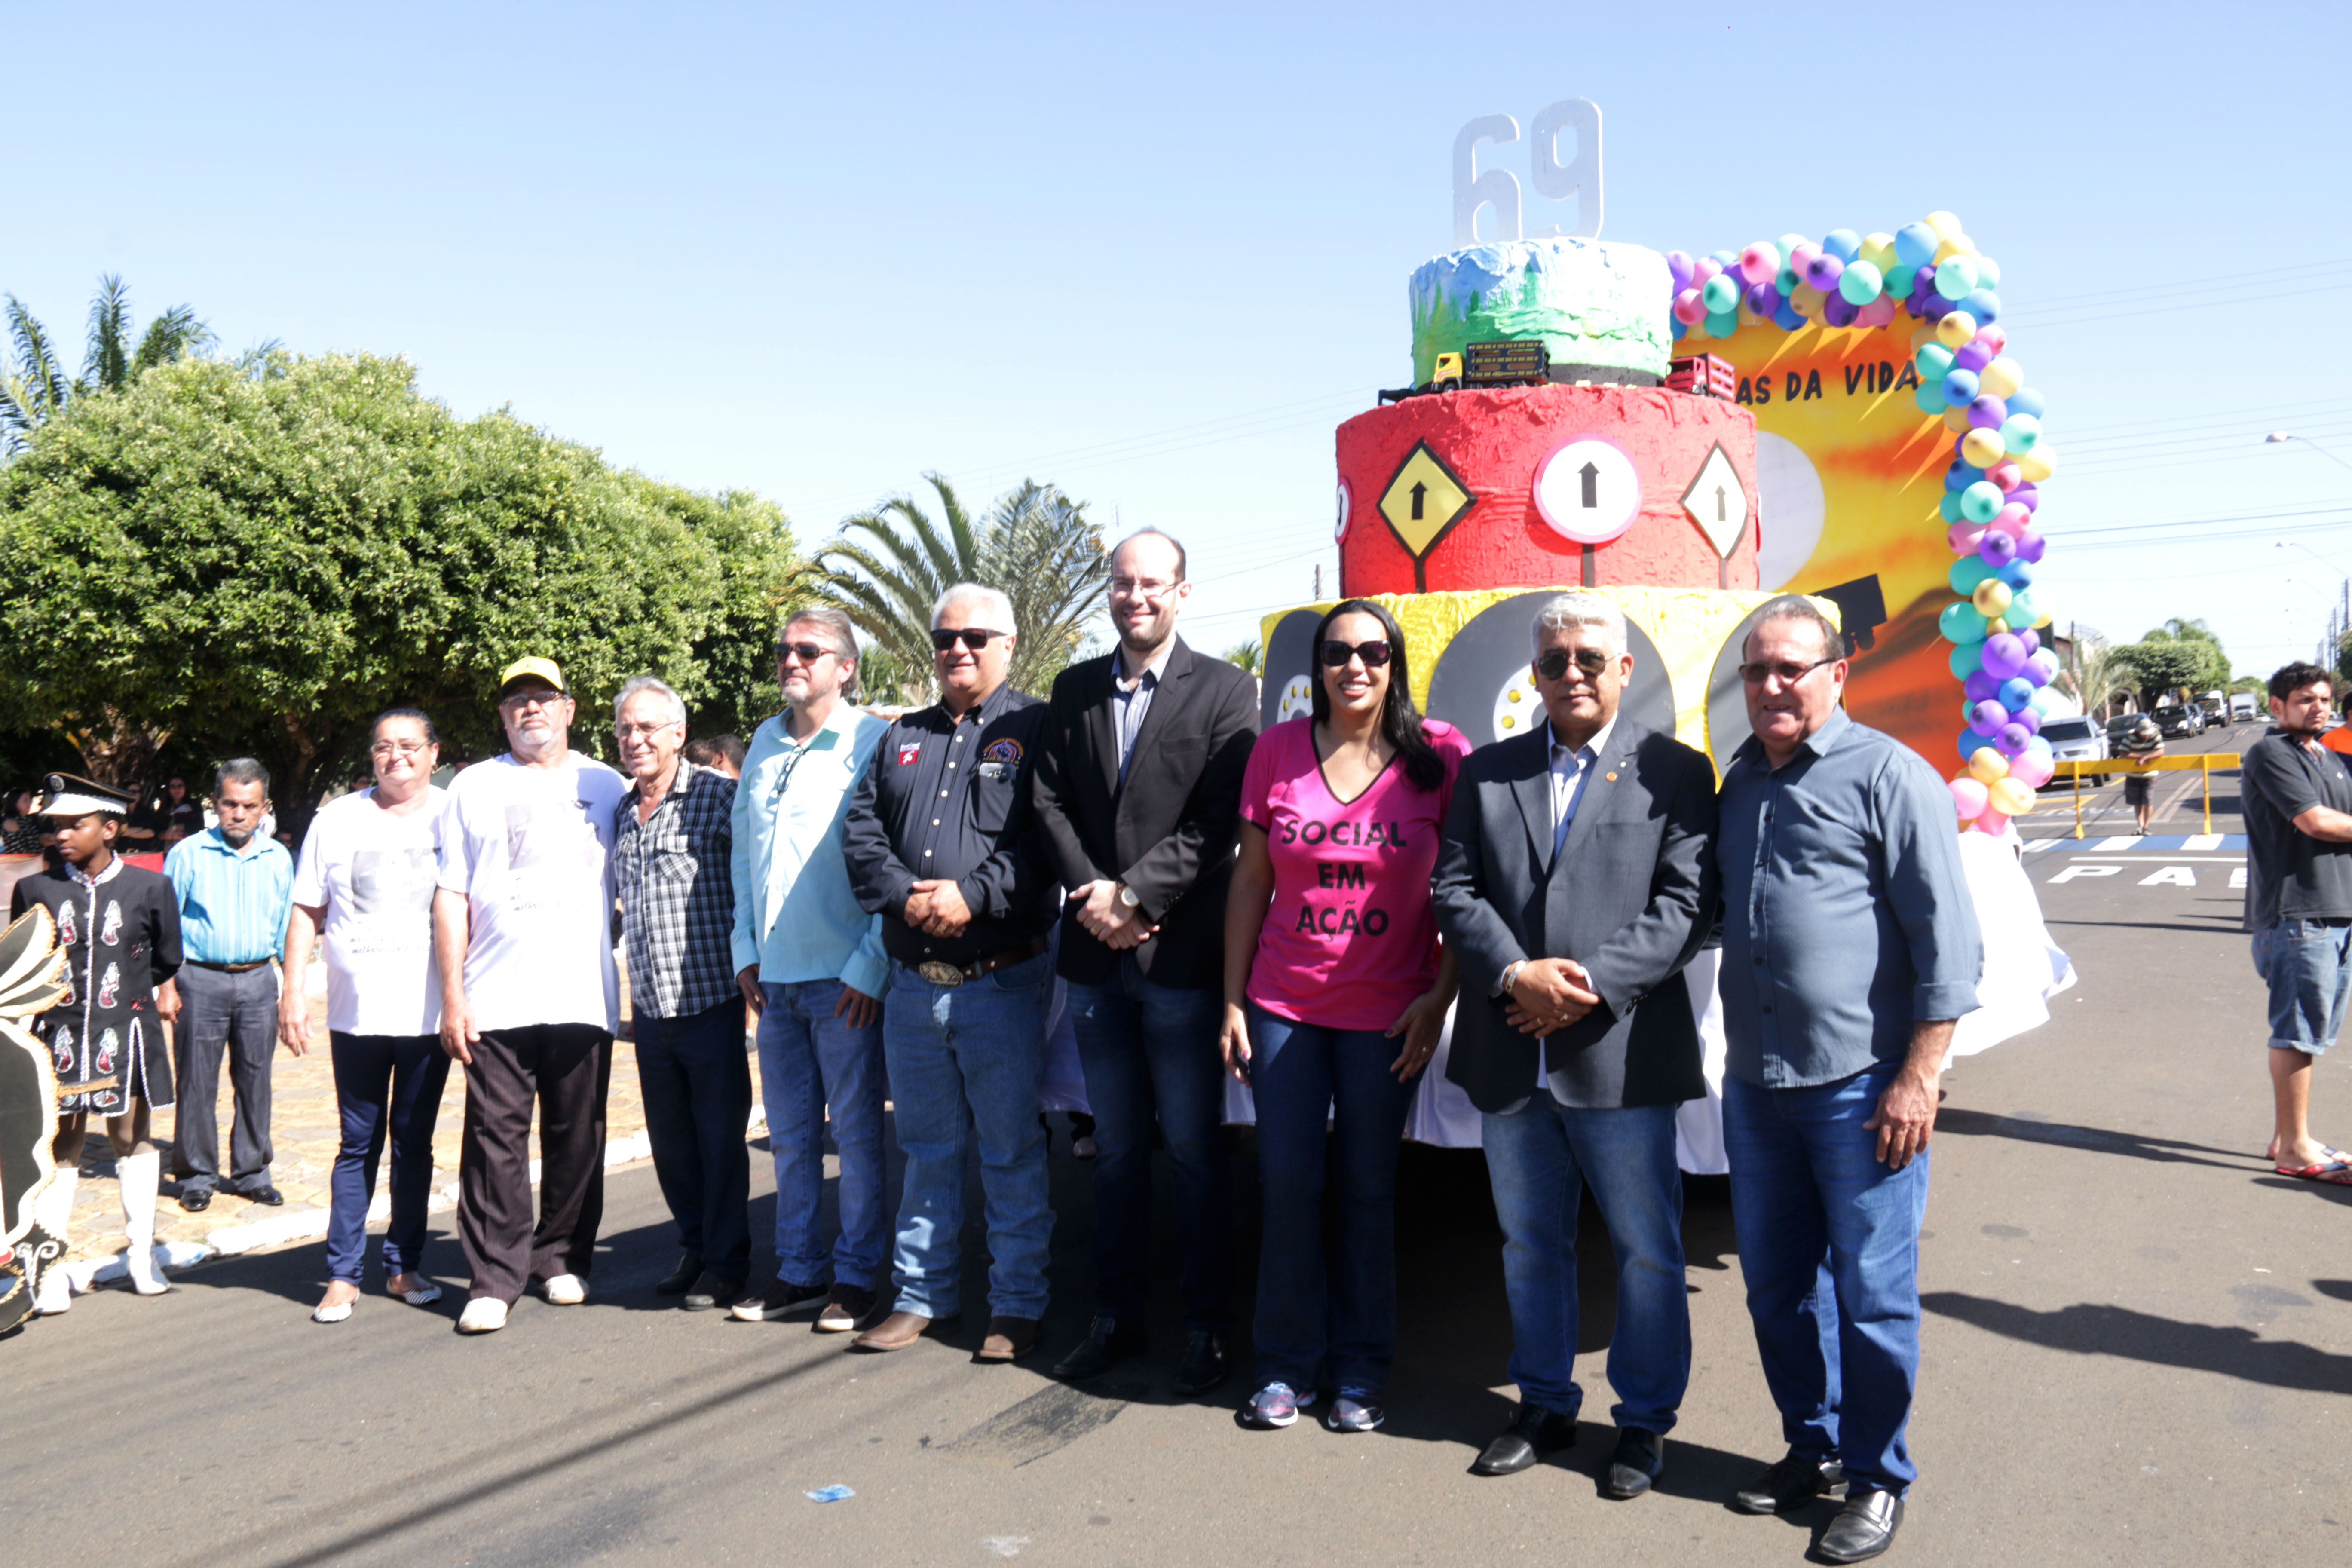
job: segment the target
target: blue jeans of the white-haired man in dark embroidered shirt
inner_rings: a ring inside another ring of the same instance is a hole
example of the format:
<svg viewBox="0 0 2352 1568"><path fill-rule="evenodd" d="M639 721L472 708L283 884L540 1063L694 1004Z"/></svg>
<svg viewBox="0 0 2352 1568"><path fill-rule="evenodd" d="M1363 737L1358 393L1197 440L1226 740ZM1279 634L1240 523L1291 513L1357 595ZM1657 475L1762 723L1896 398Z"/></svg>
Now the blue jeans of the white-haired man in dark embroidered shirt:
<svg viewBox="0 0 2352 1568"><path fill-rule="evenodd" d="M901 1312L938 1319L962 1309L964 1152L976 1135L988 1307L997 1316L1044 1316L1054 1204L1037 1081L1044 1077L1051 964L1040 954L955 987L891 964L882 1056L906 1154L891 1251Z"/></svg>

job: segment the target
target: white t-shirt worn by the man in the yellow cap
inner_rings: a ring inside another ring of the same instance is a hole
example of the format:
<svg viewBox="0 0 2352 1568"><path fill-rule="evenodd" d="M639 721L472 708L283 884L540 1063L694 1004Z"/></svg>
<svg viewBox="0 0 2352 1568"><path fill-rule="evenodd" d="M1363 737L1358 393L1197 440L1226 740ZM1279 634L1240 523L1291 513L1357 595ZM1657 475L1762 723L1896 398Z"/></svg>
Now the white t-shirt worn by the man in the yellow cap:
<svg viewBox="0 0 2352 1568"><path fill-rule="evenodd" d="M612 964L612 813L628 780L593 757L492 757L449 783L440 884L466 893L466 1004L477 1030L621 1023Z"/></svg>

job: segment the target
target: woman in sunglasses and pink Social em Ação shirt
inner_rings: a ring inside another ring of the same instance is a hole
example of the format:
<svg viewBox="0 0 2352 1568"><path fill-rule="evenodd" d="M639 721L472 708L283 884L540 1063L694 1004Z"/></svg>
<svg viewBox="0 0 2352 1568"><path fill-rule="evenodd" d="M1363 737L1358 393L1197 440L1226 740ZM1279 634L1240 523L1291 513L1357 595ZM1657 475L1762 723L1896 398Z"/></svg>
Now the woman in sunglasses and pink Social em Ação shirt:
<svg viewBox="0 0 2352 1568"><path fill-rule="evenodd" d="M1404 632L1369 599L1315 630L1315 712L1258 736L1225 903L1225 1067L1256 1088L1265 1225L1254 1427L1371 1432L1397 1338L1397 1145L1454 1004L1430 870L1470 743L1414 712ZM1327 1133L1329 1124L1329 1133ZM1338 1140L1336 1267L1324 1145Z"/></svg>

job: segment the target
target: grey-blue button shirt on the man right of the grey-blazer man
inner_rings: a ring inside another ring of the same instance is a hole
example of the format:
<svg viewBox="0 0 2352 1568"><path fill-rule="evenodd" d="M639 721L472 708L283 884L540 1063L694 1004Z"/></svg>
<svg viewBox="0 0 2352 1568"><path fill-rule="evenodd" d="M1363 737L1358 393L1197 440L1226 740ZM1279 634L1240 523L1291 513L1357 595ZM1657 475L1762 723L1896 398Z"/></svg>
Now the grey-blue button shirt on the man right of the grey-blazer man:
<svg viewBox="0 0 2352 1568"><path fill-rule="evenodd" d="M1724 771L1724 1067L1759 1088L1835 1084L1910 1051L1912 1023L1976 1011L1983 940L1952 797L1844 710L1780 769L1750 736Z"/></svg>

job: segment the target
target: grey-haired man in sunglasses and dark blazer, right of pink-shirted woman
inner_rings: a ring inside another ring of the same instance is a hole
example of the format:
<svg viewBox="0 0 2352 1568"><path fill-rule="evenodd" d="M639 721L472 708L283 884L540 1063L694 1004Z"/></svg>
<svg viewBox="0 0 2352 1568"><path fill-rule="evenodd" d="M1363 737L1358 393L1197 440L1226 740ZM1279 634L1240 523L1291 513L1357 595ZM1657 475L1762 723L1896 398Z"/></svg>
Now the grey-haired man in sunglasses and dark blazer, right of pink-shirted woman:
<svg viewBox="0 0 2352 1568"><path fill-rule="evenodd" d="M1618 1255L1611 1497L1665 1469L1691 1380L1675 1107L1705 1081L1682 966L1715 912L1715 769L1618 715L1628 675L1609 599L1566 592L1538 611L1550 722L1470 755L1435 875L1463 971L1446 1077L1484 1112L1522 1401L1475 1469L1505 1476L1576 1441L1576 1204L1590 1185Z"/></svg>

